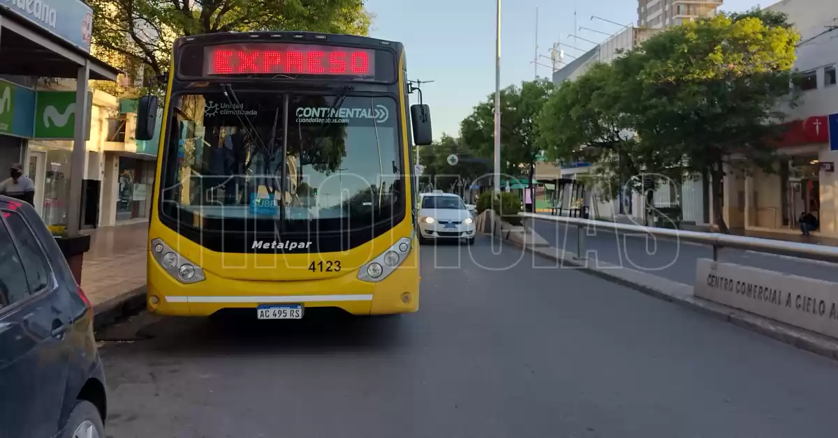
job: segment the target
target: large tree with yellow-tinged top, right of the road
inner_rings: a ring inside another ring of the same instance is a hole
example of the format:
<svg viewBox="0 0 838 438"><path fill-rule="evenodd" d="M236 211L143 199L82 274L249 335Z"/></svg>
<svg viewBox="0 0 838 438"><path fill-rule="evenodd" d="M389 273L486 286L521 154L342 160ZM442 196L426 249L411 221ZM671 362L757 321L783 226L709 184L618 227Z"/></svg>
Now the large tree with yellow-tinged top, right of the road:
<svg viewBox="0 0 838 438"><path fill-rule="evenodd" d="M614 61L640 65L623 111L651 149L711 175L720 231L724 165L773 171L784 105L794 105L796 33L782 13L752 10L685 23ZM649 149L647 149L647 152Z"/></svg>

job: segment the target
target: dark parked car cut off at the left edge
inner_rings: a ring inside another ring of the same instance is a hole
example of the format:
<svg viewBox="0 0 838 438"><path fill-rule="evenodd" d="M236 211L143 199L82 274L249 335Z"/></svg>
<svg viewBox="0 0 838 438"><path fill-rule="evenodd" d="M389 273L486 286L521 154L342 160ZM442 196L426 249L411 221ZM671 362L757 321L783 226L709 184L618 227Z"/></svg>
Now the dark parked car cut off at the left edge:
<svg viewBox="0 0 838 438"><path fill-rule="evenodd" d="M90 301L32 206L0 196L0 437L105 438Z"/></svg>

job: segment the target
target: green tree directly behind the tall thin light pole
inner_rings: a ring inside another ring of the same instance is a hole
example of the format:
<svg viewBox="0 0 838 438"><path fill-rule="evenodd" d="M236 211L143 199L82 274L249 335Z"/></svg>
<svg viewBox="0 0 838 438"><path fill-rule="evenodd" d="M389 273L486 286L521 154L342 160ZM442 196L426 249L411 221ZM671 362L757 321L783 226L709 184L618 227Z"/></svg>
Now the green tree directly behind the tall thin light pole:
<svg viewBox="0 0 838 438"><path fill-rule="evenodd" d="M500 92L501 172L527 174L530 188L535 162L541 149L537 143L535 119L553 90L549 80L532 80L510 85ZM494 155L494 95L475 106L460 126L463 143L484 157Z"/></svg>

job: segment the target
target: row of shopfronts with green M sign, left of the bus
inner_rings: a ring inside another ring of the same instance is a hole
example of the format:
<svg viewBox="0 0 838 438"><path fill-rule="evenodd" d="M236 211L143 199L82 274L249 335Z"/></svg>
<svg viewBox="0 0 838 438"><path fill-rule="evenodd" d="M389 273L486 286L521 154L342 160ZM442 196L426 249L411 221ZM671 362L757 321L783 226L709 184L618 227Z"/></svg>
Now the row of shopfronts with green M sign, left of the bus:
<svg viewBox="0 0 838 438"><path fill-rule="evenodd" d="M0 168L23 164L35 183L34 207L46 224L68 222L75 137L75 81L0 78ZM130 105L101 90L89 95L85 161L81 173L80 228L146 219L157 144L136 142ZM121 105L122 104L122 105Z"/></svg>

